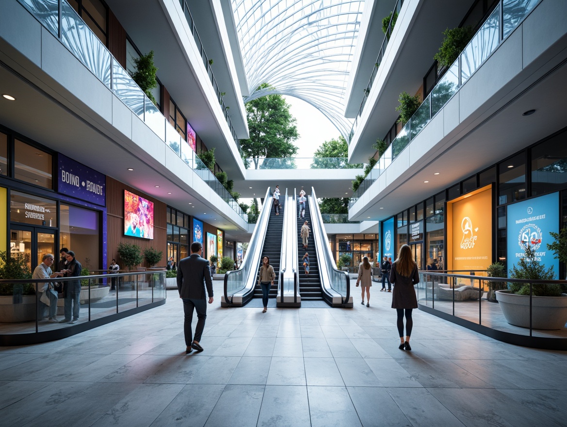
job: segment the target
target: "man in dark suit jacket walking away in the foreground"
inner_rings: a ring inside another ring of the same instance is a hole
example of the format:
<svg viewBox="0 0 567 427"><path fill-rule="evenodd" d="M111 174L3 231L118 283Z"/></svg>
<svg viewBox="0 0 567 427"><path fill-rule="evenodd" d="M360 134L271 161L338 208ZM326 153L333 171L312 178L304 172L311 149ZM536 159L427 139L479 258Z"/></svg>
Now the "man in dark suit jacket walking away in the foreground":
<svg viewBox="0 0 567 427"><path fill-rule="evenodd" d="M209 304L213 303L213 281L211 280L209 261L201 257L202 253L202 244L193 242L191 244L191 256L182 259L177 265L177 289L179 289L179 298L183 299L183 311L185 313L183 332L185 333L185 345L187 345L186 353L191 353L193 348L198 352L203 351L199 341L201 341L205 319L207 318L205 284L209 294ZM194 337L191 331L193 308L197 310L197 327ZM191 340L192 338L193 340Z"/></svg>

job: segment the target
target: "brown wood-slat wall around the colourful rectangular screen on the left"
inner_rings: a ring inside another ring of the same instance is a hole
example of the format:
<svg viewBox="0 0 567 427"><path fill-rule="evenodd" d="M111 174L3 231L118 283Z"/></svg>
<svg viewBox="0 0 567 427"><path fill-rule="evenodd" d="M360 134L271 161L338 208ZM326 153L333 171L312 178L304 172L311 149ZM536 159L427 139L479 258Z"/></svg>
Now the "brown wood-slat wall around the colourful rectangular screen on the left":
<svg viewBox="0 0 567 427"><path fill-rule="evenodd" d="M139 196L147 198L154 202L154 239L139 239L132 236L124 235L124 190L128 190ZM166 221L167 205L164 202L156 200L146 195L136 188L123 184L109 176L107 176L107 257L108 261L113 258L121 268L125 266L120 263L120 257L116 252L119 243L134 243L143 250L147 247L153 247L158 251L163 251L163 258L159 266L166 265L166 249L167 249L167 221ZM145 264L142 267L150 267Z"/></svg>

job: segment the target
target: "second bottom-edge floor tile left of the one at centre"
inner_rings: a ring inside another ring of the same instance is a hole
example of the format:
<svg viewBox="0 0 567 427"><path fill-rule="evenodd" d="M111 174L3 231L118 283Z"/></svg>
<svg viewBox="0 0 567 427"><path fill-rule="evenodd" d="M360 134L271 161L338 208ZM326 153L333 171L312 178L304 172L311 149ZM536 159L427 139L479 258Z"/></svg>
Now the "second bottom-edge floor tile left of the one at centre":
<svg viewBox="0 0 567 427"><path fill-rule="evenodd" d="M151 427L202 427L225 390L222 384L187 384Z"/></svg>

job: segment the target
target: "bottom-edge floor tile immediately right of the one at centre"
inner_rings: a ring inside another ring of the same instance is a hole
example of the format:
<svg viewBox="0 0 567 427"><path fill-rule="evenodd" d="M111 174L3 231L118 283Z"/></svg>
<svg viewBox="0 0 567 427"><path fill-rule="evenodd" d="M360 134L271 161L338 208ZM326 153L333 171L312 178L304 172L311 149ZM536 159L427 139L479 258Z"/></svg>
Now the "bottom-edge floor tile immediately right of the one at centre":
<svg viewBox="0 0 567 427"><path fill-rule="evenodd" d="M360 418L345 387L307 387L312 427L356 427Z"/></svg>

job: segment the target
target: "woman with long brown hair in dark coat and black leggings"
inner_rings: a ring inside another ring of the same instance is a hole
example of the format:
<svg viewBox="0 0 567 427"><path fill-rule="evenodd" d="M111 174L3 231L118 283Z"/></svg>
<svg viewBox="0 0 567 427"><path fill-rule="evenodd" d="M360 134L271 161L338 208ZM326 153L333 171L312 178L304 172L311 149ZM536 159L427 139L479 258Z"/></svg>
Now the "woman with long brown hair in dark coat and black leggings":
<svg viewBox="0 0 567 427"><path fill-rule="evenodd" d="M412 310L417 308L416 290L413 285L420 282L417 264L413 260L412 250L407 244L400 248L397 260L390 270L390 282L395 285L392 293L392 308L397 311L397 331L400 334L400 350L411 350L409 337L412 335ZM404 341L405 311L405 341Z"/></svg>

